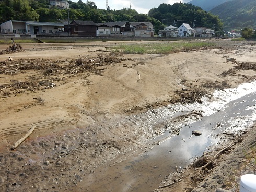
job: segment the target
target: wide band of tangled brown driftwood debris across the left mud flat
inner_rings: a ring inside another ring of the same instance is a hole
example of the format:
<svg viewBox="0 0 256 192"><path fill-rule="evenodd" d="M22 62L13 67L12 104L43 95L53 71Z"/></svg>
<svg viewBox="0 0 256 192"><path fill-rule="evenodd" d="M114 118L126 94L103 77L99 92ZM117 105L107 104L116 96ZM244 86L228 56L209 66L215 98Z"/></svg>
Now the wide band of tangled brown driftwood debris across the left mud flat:
<svg viewBox="0 0 256 192"><path fill-rule="evenodd" d="M28 73L29 70L36 70L37 75L29 76L26 81L14 80L0 85L2 97L10 97L26 91L43 90L54 88L58 81L70 78L77 74L101 75L106 65L114 65L121 62L120 58L109 55L98 55L94 58L78 58L75 60L51 61L48 59L19 59L0 62L0 74L17 75Z"/></svg>

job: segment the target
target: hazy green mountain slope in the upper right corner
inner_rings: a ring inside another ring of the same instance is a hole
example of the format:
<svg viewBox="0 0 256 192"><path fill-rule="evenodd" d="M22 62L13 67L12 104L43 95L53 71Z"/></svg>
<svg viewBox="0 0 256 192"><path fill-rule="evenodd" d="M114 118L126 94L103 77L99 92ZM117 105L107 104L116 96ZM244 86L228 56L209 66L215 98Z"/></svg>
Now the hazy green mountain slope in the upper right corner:
<svg viewBox="0 0 256 192"><path fill-rule="evenodd" d="M233 0L211 10L224 22L226 30L241 30L245 27L256 27L256 1Z"/></svg>

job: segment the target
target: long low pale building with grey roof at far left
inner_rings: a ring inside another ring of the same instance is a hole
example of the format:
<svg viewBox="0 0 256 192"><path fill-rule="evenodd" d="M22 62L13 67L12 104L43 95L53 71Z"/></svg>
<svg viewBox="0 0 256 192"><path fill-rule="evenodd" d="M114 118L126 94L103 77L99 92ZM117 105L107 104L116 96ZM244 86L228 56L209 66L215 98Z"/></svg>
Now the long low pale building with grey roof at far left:
<svg viewBox="0 0 256 192"><path fill-rule="evenodd" d="M55 34L64 28L63 23L9 20L0 25L4 34Z"/></svg>

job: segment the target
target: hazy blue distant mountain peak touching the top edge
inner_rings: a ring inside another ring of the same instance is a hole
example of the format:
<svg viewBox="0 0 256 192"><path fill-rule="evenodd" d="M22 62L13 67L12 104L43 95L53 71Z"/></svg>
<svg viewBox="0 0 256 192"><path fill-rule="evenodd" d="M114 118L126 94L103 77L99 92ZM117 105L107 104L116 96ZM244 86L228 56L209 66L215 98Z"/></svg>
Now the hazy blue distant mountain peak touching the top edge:
<svg viewBox="0 0 256 192"><path fill-rule="evenodd" d="M228 2L228 1L232 1L232 0L214 0L214 1L210 1L210 0L192 0L188 3L191 3L195 6L199 6L203 10L210 11L214 7L216 7L220 4L223 4L225 2Z"/></svg>

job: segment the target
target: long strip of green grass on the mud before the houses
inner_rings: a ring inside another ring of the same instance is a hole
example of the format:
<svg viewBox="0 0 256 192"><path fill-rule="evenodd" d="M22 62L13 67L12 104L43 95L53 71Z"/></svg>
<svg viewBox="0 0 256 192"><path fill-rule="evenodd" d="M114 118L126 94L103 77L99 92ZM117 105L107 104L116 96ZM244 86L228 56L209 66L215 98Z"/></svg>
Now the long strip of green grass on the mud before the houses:
<svg viewBox="0 0 256 192"><path fill-rule="evenodd" d="M208 42L165 42L135 45L115 46L112 52L122 52L126 54L170 54L180 51L196 50L203 47L213 47L214 43Z"/></svg>

